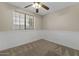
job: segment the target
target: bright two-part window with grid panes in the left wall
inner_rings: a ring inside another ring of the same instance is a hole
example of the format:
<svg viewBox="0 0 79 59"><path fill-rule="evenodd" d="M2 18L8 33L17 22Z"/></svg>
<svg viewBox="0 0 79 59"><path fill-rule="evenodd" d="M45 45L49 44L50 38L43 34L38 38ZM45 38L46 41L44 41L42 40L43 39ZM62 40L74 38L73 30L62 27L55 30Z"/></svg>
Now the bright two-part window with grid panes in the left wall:
<svg viewBox="0 0 79 59"><path fill-rule="evenodd" d="M13 12L13 29L34 29L34 16L20 12Z"/></svg>

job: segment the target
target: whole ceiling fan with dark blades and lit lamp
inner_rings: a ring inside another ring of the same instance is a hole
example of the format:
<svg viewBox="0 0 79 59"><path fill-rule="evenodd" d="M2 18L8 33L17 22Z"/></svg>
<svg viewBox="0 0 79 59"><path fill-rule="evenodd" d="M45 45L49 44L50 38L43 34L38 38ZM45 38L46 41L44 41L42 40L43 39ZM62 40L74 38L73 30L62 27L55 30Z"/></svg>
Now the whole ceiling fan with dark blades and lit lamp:
<svg viewBox="0 0 79 59"><path fill-rule="evenodd" d="M30 6L33 6L36 9L36 13L39 12L39 8L43 7L46 10L49 10L49 7L47 7L46 5L42 4L41 2L34 2L33 4L27 5L24 8L28 8Z"/></svg>

